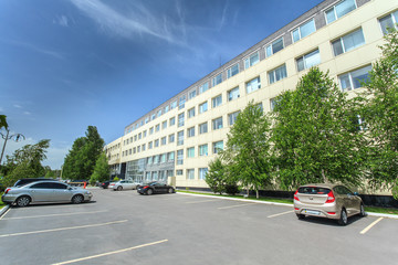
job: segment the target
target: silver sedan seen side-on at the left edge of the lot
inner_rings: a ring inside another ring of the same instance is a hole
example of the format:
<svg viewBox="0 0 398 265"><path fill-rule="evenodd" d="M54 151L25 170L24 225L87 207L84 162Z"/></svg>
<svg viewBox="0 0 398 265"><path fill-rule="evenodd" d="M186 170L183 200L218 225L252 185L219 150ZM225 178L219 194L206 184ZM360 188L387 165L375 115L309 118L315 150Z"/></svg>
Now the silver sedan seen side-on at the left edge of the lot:
<svg viewBox="0 0 398 265"><path fill-rule="evenodd" d="M60 181L35 181L22 187L7 188L1 200L4 203L27 206L35 202L72 202L91 201L88 190L74 188Z"/></svg>

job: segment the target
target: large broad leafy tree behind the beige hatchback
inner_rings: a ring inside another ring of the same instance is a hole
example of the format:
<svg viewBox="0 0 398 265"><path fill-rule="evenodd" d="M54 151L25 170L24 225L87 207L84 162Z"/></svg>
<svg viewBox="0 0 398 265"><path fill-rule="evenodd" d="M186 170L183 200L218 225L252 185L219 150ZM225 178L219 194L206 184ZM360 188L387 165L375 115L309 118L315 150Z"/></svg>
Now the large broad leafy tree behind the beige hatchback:
<svg viewBox="0 0 398 265"><path fill-rule="evenodd" d="M272 113L275 174L282 189L311 182L362 184L366 146L357 98L347 99L317 67L276 98Z"/></svg>

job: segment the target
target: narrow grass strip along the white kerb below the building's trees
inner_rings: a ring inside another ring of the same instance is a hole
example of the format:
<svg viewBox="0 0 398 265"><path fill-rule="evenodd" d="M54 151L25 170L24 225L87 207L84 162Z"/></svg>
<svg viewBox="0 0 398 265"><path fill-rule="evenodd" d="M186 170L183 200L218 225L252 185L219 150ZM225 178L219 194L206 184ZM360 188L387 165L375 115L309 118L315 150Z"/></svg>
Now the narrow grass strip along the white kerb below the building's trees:
<svg viewBox="0 0 398 265"><path fill-rule="evenodd" d="M220 195L220 194L213 194L213 193L206 193L206 192L195 192L195 191L185 191L179 190L178 192L184 193L192 193L192 194L202 194L202 195L216 195L216 197L223 197L223 198L237 198L237 199L247 199L247 200L253 200L253 201L268 201L268 202L279 202L279 203L286 203L286 204L293 204L292 199L277 199L277 198L269 198L269 197L262 197L260 199L255 199L255 197L249 197L244 198L243 195ZM396 208L377 208L377 206L365 206L366 212L373 212L373 213L387 213L387 214L398 214L398 209Z"/></svg>

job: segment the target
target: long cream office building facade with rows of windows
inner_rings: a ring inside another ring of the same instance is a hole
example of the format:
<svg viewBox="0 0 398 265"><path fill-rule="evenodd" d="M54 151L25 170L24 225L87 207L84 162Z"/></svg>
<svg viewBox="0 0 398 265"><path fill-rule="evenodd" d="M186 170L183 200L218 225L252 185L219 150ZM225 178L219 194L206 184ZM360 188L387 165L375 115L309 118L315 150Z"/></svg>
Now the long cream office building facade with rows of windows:
<svg viewBox="0 0 398 265"><path fill-rule="evenodd" d="M206 188L208 163L249 102L272 110L315 65L343 92L360 89L397 22L396 0L323 1L126 126L105 148L113 174Z"/></svg>

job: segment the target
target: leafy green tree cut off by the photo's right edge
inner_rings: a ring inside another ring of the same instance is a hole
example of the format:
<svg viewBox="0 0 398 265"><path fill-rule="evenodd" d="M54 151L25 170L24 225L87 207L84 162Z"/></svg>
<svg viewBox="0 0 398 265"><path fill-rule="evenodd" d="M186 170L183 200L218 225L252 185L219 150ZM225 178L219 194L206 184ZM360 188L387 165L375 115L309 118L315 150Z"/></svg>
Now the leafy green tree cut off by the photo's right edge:
<svg viewBox="0 0 398 265"><path fill-rule="evenodd" d="M398 32L391 31L385 41L383 56L365 84L368 103L364 115L371 139L369 182L374 188L392 188L398 199Z"/></svg>

